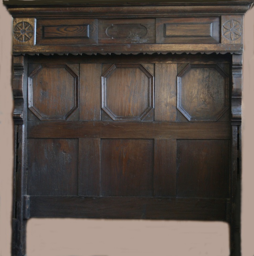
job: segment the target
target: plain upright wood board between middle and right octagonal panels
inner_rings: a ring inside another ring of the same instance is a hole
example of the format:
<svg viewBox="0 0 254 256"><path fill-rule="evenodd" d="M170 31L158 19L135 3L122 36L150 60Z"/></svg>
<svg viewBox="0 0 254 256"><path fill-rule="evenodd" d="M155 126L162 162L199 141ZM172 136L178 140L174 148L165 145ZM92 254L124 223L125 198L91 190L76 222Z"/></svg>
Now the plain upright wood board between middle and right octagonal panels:
<svg viewBox="0 0 254 256"><path fill-rule="evenodd" d="M177 64L156 64L155 74L155 121L176 121Z"/></svg>

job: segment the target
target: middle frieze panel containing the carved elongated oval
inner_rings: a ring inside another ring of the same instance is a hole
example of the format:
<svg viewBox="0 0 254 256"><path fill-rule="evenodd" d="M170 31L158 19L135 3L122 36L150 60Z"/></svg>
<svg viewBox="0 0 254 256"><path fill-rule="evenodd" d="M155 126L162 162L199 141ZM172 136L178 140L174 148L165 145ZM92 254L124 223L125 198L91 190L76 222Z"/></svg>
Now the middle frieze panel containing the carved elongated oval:
<svg viewBox="0 0 254 256"><path fill-rule="evenodd" d="M99 20L99 44L155 43L155 19Z"/></svg>

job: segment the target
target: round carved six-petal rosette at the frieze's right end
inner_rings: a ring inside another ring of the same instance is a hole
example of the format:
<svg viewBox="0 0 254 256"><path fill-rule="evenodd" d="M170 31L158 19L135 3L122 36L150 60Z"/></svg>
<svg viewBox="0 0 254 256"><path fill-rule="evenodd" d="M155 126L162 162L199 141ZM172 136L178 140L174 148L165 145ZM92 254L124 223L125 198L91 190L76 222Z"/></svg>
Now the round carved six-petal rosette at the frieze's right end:
<svg viewBox="0 0 254 256"><path fill-rule="evenodd" d="M227 20L222 26L223 36L230 41L235 41L242 33L243 27L237 20Z"/></svg>

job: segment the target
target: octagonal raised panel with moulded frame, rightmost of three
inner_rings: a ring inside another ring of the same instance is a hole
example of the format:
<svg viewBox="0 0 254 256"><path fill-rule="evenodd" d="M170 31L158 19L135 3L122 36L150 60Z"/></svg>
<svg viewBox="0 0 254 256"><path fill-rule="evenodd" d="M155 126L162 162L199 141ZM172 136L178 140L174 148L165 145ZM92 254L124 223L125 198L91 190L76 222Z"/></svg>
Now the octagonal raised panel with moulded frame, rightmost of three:
<svg viewBox="0 0 254 256"><path fill-rule="evenodd" d="M177 109L189 121L217 121L228 109L228 76L216 64L189 64L177 76Z"/></svg>

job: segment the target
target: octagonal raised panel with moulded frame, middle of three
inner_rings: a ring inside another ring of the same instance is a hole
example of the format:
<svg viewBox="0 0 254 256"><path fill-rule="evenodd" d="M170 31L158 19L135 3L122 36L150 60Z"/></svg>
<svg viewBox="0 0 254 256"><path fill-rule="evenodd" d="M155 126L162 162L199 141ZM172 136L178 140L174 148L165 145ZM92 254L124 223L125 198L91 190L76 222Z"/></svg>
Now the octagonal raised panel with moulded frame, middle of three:
<svg viewBox="0 0 254 256"><path fill-rule="evenodd" d="M153 97L153 75L141 64L114 64L102 75L102 109L114 121L144 120Z"/></svg>

